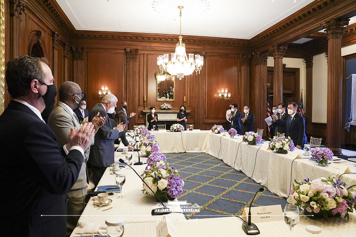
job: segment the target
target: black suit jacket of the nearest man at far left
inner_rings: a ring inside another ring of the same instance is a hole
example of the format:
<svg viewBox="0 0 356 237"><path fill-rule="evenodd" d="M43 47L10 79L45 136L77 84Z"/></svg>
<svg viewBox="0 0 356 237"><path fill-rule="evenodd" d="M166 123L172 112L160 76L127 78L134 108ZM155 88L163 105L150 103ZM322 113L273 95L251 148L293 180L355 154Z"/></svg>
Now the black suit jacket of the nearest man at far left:
<svg viewBox="0 0 356 237"><path fill-rule="evenodd" d="M13 205L2 206L1 235L66 236L66 194L77 181L82 153L64 157L51 128L16 101L0 116L0 144L0 179L15 194Z"/></svg>

